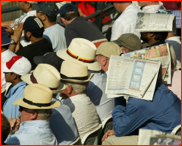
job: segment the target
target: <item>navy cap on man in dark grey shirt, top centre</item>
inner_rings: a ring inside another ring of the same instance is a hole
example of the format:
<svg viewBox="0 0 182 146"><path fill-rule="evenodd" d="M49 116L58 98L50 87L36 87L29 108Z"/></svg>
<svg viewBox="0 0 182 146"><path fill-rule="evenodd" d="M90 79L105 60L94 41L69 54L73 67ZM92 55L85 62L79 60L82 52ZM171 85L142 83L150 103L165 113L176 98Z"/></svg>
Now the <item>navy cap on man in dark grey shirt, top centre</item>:
<svg viewBox="0 0 182 146"><path fill-rule="evenodd" d="M74 4L65 4L60 8L59 13L60 16L63 16L65 13L70 11L78 11L78 8Z"/></svg>

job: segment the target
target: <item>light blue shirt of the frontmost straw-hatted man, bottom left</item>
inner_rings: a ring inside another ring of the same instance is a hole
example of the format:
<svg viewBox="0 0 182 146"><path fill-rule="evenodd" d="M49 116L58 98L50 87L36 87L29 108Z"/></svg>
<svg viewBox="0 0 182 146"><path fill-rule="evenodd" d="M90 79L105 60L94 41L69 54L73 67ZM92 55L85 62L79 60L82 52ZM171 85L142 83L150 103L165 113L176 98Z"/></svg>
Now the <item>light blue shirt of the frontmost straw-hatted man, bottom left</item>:
<svg viewBox="0 0 182 146"><path fill-rule="evenodd" d="M60 133L61 134L61 133ZM57 145L48 120L26 121L13 135L9 135L6 142L9 145Z"/></svg>

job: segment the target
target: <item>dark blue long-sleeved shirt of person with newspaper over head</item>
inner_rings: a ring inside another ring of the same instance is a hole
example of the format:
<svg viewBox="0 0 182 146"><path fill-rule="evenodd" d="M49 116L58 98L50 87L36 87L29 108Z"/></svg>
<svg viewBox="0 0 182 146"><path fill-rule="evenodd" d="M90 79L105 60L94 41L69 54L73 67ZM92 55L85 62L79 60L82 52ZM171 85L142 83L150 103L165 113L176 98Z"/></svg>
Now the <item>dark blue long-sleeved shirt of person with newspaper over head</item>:
<svg viewBox="0 0 182 146"><path fill-rule="evenodd" d="M130 97L126 107L116 105L112 117L116 136L126 136L138 128L170 133L181 124L181 101L157 83L153 101Z"/></svg>

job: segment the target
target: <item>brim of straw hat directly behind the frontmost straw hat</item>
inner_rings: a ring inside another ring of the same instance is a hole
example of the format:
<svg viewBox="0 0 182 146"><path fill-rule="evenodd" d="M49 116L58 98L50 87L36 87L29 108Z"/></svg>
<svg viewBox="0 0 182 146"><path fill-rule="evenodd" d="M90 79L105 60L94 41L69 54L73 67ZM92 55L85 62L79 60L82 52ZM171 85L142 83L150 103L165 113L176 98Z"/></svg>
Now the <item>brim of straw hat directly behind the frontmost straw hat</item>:
<svg viewBox="0 0 182 146"><path fill-rule="evenodd" d="M31 74L26 74L26 75L21 77L21 80L24 81L25 83L29 84L29 85L34 84L34 83L31 82L30 76L31 76ZM52 91L53 94L57 94L57 93L63 91L64 89L65 89L65 85L60 82L60 84L58 86L58 89L51 90L51 91Z"/></svg>

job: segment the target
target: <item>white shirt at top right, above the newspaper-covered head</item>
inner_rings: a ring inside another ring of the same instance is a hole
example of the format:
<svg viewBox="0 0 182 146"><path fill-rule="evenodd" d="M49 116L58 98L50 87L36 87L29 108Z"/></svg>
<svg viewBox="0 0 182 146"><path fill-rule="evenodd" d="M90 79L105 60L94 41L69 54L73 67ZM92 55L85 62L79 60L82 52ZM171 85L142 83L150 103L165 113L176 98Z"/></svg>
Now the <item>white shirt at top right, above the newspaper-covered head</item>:
<svg viewBox="0 0 182 146"><path fill-rule="evenodd" d="M158 5L150 5L143 7L142 11L144 13L156 13L158 10L165 10L163 3L159 1Z"/></svg>

